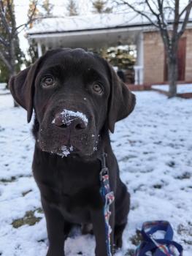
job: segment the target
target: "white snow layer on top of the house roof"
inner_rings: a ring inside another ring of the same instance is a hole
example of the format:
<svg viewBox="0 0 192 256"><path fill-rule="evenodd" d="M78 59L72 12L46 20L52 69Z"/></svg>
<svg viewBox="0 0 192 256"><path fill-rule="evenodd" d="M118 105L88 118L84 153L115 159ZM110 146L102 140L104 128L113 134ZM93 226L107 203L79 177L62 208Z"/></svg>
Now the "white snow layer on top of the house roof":
<svg viewBox="0 0 192 256"><path fill-rule="evenodd" d="M46 34L67 31L82 31L93 29L110 29L123 26L150 25L146 18L135 12L121 14L92 14L71 17L42 18L35 23L27 34Z"/></svg>

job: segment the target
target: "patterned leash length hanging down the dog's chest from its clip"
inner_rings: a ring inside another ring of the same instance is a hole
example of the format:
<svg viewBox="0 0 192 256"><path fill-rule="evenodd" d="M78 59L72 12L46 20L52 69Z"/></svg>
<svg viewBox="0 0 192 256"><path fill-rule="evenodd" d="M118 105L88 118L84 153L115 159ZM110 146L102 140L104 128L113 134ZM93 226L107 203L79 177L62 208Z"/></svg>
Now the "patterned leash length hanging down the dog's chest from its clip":
<svg viewBox="0 0 192 256"><path fill-rule="evenodd" d="M100 172L100 182L101 182L101 197L104 200L104 220L105 220L105 234L106 234L106 246L107 246L107 256L111 256L110 249L110 233L112 229L110 227L110 205L115 200L114 193L110 190L110 177L109 169L106 166L106 153L101 154L101 172Z"/></svg>

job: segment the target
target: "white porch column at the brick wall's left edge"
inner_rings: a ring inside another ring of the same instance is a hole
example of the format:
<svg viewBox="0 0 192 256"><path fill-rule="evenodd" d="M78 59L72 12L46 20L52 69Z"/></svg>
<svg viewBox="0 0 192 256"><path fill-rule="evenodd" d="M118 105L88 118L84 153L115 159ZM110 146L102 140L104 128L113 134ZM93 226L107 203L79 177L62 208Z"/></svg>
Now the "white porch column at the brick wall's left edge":
<svg viewBox="0 0 192 256"><path fill-rule="evenodd" d="M137 61L134 66L135 69L135 84L143 83L143 33L142 31L139 33L137 37Z"/></svg>

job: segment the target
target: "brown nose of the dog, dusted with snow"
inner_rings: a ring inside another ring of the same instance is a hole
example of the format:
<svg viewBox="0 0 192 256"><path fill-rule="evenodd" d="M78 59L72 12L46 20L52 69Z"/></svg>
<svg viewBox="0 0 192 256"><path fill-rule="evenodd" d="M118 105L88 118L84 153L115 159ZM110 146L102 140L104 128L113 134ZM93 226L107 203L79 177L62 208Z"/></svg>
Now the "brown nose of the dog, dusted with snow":
<svg viewBox="0 0 192 256"><path fill-rule="evenodd" d="M57 113L53 119L55 126L77 132L87 127L85 121L78 116L64 116L62 113Z"/></svg>

